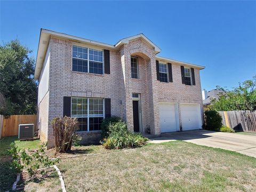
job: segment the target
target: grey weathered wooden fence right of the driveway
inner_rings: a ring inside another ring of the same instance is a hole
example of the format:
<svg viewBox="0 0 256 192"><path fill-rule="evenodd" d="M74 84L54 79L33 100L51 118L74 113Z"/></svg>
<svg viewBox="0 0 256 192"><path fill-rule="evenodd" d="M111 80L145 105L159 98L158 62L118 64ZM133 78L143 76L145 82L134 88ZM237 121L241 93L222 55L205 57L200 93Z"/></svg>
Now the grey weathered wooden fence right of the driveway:
<svg viewBox="0 0 256 192"><path fill-rule="evenodd" d="M219 111L222 124L235 131L256 132L256 111Z"/></svg>

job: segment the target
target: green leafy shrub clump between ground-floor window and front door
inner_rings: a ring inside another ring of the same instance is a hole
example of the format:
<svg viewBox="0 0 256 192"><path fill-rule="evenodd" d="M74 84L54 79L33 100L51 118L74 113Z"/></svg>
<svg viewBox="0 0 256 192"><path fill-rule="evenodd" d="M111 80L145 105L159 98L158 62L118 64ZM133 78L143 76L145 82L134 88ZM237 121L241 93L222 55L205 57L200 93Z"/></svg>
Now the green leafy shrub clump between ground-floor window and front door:
<svg viewBox="0 0 256 192"><path fill-rule="evenodd" d="M104 132L103 146L106 149L123 149L127 147L137 147L145 145L148 138L141 134L132 133L127 130L127 125L119 117L106 119L101 126Z"/></svg>

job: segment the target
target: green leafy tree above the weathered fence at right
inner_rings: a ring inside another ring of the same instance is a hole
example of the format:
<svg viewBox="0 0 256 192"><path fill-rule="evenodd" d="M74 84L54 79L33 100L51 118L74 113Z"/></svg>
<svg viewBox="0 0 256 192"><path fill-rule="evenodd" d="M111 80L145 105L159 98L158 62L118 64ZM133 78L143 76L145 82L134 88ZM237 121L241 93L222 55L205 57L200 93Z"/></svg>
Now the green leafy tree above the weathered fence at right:
<svg viewBox="0 0 256 192"><path fill-rule="evenodd" d="M219 87L220 88L220 87ZM251 80L239 83L238 87L219 94L219 99L213 99L210 106L211 110L231 111L231 110L256 110L256 76Z"/></svg>

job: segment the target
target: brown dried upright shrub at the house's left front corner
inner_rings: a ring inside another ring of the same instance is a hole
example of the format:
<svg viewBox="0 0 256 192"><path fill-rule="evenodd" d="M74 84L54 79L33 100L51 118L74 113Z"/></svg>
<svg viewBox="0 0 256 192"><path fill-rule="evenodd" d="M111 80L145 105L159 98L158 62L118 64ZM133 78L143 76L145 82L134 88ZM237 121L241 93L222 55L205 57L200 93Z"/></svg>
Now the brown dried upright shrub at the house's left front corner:
<svg viewBox="0 0 256 192"><path fill-rule="evenodd" d="M67 116L52 119L55 149L57 152L67 152L71 149L77 123L77 118Z"/></svg>

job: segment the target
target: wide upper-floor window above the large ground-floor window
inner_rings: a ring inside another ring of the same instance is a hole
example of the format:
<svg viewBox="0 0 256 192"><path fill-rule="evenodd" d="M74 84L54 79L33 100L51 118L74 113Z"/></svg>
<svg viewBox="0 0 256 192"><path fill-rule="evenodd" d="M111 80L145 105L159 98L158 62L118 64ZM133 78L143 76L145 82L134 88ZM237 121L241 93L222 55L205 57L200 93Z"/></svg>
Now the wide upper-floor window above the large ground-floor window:
<svg viewBox="0 0 256 192"><path fill-rule="evenodd" d="M103 74L103 52L73 45L73 71Z"/></svg>

